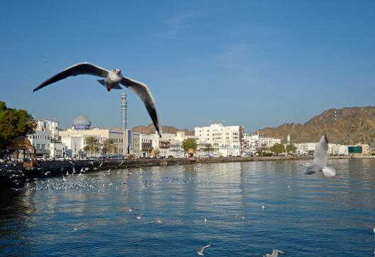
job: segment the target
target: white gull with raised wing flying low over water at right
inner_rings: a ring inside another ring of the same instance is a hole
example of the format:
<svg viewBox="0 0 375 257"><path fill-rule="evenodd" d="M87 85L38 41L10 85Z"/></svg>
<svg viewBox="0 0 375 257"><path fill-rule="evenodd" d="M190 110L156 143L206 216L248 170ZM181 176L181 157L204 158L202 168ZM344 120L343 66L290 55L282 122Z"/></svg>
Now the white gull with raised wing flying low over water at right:
<svg viewBox="0 0 375 257"><path fill-rule="evenodd" d="M303 174L310 175L318 172L322 172L326 177L333 177L336 175L336 171L332 167L327 167L327 151L328 151L328 139L327 136L322 136L314 152L314 160L309 165Z"/></svg>

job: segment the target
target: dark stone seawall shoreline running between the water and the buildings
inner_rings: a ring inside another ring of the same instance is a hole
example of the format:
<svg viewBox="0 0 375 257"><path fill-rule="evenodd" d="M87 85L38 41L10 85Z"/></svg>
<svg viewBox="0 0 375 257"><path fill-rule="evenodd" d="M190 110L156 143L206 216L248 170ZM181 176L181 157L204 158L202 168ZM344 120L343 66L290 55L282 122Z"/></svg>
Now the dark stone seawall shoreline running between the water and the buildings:
<svg viewBox="0 0 375 257"><path fill-rule="evenodd" d="M329 159L350 159L352 156L328 156ZM359 156L355 157L359 158ZM363 158L363 157L362 157ZM45 177L62 177L102 170L121 168L144 168L164 165L189 165L196 163L235 163L269 160L310 160L312 156L256 156L256 157L217 157L217 158L140 158L140 159L96 159L38 161L32 170L23 168L22 163L0 165L0 188L22 187L25 182Z"/></svg>

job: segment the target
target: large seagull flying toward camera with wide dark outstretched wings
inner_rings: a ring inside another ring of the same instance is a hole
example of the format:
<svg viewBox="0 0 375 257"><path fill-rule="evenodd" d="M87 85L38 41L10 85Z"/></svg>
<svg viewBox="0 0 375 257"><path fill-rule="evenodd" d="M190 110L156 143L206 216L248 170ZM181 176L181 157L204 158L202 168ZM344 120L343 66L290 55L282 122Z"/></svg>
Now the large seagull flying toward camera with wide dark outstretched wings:
<svg viewBox="0 0 375 257"><path fill-rule="evenodd" d="M111 91L111 89L122 89L120 84L131 89L138 95L138 97L141 98L142 102L145 104L148 114L151 116L151 119L153 121L153 125L158 131L159 136L161 136L161 127L159 123L158 112L156 111L156 104L153 100L150 89L148 89L146 84L143 84L136 80L131 80L128 77L124 77L121 74L121 70L119 68L106 70L97 65L92 65L89 62L78 63L67 67L65 70L62 70L62 72L59 72L58 74L53 75L53 77L50 77L48 80L45 80L45 82L33 89L33 92L36 92L37 90L46 87L49 84L64 80L67 77L77 75L94 75L104 78L97 81L104 87L107 87L108 92Z"/></svg>

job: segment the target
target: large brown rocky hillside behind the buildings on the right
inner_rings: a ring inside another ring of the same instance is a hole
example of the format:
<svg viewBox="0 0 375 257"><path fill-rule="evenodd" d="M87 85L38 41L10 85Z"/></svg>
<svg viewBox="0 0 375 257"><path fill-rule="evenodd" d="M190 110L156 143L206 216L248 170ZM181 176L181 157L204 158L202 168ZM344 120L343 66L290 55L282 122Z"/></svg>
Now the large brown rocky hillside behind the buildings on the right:
<svg viewBox="0 0 375 257"><path fill-rule="evenodd" d="M345 107L323 111L305 124L283 124L277 128L262 128L256 133L281 138L286 143L317 142L327 135L330 143L375 142L375 106Z"/></svg>

